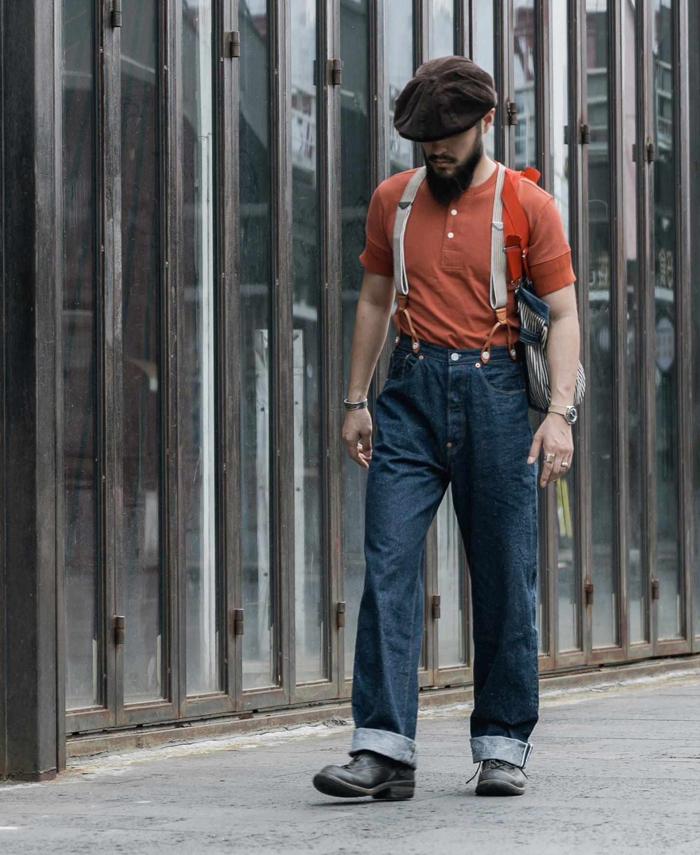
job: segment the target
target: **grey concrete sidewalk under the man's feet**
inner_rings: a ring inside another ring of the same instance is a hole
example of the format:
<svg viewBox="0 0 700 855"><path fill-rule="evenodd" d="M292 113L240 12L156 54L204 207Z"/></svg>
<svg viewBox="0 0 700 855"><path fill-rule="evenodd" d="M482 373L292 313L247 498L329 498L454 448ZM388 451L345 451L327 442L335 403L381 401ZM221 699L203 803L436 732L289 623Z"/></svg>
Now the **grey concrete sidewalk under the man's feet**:
<svg viewBox="0 0 700 855"><path fill-rule="evenodd" d="M544 698L524 796L482 799L467 709L421 711L416 796L330 799L350 728L297 728L77 758L56 781L0 784L0 852L700 852L700 680Z"/></svg>

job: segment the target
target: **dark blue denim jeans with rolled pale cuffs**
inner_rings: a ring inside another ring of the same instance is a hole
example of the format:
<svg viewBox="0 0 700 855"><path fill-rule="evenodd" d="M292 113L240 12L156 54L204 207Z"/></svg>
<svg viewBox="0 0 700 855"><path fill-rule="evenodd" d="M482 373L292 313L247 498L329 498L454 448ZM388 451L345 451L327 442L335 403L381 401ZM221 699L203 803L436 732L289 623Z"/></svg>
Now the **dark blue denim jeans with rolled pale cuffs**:
<svg viewBox="0 0 700 855"><path fill-rule="evenodd" d="M518 350L519 357L521 351ZM350 755L417 763L424 540L451 485L472 581L472 759L525 767L537 723L537 471L525 363L402 334L377 397Z"/></svg>

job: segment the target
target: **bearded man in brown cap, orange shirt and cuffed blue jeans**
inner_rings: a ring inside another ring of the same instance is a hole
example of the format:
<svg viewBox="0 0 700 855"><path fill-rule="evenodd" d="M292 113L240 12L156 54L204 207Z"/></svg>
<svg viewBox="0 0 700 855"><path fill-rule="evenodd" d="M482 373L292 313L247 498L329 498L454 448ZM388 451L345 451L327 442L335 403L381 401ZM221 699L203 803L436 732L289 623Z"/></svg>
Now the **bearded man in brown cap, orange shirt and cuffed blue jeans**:
<svg viewBox="0 0 700 855"><path fill-rule="evenodd" d="M525 790L538 717L537 458L543 451L540 486L571 466L571 414L564 413L573 400L578 315L571 252L554 199L520 178L515 188L530 227L531 280L550 310L547 360L558 410L533 436L512 283L507 322L514 348L506 324L492 329L489 303L497 164L484 154L483 134L495 103L489 74L460 56L425 62L396 99L394 126L422 144L427 173L406 225L410 310L406 304L394 316L397 335L377 397L374 445L367 389L394 301L396 208L416 170L383 181L371 198L343 427L347 453L368 469L353 759L315 775L314 786L329 795L412 797L423 547L448 484L472 581L477 793Z"/></svg>

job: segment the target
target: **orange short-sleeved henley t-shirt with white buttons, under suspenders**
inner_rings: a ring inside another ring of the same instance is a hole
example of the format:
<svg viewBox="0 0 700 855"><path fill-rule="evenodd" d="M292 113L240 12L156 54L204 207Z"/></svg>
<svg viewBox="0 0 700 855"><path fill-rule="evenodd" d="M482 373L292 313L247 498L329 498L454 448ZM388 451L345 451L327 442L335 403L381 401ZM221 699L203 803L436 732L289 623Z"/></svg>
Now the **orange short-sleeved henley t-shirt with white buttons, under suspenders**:
<svg viewBox="0 0 700 855"><path fill-rule="evenodd" d="M414 172L408 169L392 175L372 194L365 251L359 261L373 273L394 276L396 206ZM497 173L494 169L483 184L468 187L447 208L432 197L425 180L418 187L404 236L406 308L418 339L443 347L480 348L495 324L489 289ZM518 181L517 192L530 226L531 280L537 296L543 297L576 280L571 249L554 197L526 178ZM519 315L509 282L507 290L507 319L517 341ZM401 331L410 335L406 318L399 316ZM506 327L496 329L491 345L507 345Z"/></svg>

